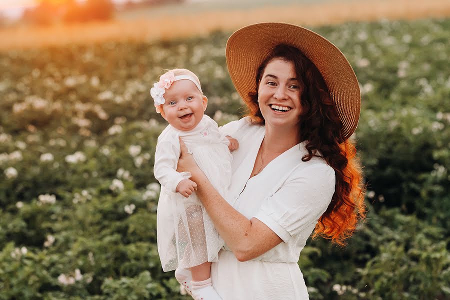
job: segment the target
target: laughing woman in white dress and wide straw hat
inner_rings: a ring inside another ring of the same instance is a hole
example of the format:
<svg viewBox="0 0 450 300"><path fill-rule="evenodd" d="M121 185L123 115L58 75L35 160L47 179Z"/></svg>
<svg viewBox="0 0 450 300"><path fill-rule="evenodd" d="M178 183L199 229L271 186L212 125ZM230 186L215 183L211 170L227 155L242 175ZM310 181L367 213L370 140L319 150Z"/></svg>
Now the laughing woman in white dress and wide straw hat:
<svg viewBox="0 0 450 300"><path fill-rule="evenodd" d="M228 198L182 141L177 169L191 172L225 241L212 263L212 284L224 300L308 299L297 261L311 232L342 245L364 217L349 139L359 117L358 82L339 49L292 24L237 30L226 58L249 111L223 126L239 142Z"/></svg>

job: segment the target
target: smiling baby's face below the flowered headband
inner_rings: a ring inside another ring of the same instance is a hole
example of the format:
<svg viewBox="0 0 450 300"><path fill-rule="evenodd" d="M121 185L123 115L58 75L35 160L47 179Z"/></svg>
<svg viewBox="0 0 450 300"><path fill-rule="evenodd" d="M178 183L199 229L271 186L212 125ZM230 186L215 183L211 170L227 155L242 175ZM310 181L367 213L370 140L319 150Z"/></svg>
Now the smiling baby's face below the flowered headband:
<svg viewBox="0 0 450 300"><path fill-rule="evenodd" d="M192 130L203 117L208 99L187 79L174 81L165 90L161 115L174 128Z"/></svg>

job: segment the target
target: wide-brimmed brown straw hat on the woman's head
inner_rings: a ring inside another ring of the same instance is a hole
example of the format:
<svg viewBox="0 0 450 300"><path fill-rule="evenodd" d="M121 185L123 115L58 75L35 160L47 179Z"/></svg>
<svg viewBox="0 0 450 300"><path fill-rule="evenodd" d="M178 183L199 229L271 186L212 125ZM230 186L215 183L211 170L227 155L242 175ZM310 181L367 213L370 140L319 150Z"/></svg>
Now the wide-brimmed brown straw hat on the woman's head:
<svg viewBox="0 0 450 300"><path fill-rule="evenodd" d="M226 63L231 80L244 101L254 91L256 70L279 43L298 48L321 73L342 122L344 139L356 129L361 96L350 63L323 36L306 28L280 22L251 24L235 31L226 42Z"/></svg>

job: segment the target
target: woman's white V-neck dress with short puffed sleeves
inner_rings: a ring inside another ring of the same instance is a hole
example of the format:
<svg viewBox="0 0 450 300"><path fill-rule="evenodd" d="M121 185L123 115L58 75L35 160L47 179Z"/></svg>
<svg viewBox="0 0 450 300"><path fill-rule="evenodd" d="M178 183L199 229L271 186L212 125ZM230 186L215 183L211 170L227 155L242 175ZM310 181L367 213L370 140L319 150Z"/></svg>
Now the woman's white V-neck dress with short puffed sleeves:
<svg viewBox="0 0 450 300"><path fill-rule="evenodd" d="M283 242L244 262L225 245L211 266L212 285L223 300L308 299L297 261L334 193L334 170L319 157L301 161L307 153L301 142L249 178L264 126L242 118L220 129L239 141L232 152L228 202L248 219L262 221Z"/></svg>

